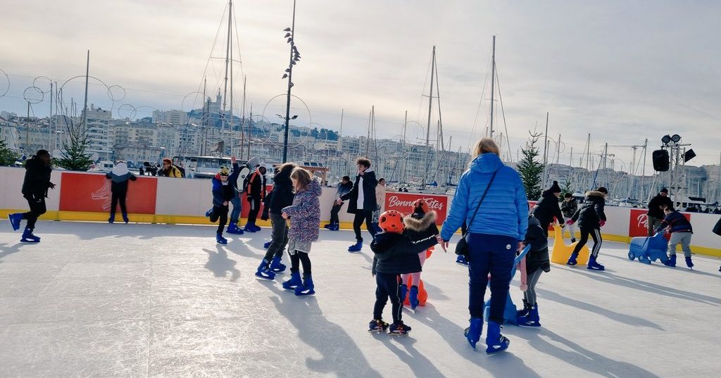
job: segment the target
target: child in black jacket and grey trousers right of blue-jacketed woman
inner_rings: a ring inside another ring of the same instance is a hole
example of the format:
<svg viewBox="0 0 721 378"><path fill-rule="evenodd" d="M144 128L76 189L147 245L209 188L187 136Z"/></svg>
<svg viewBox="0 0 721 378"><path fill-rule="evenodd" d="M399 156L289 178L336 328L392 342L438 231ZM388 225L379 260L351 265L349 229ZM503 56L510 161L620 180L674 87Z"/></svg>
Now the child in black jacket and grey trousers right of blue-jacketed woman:
<svg viewBox="0 0 721 378"><path fill-rule="evenodd" d="M541 273L551 271L548 255L548 237L541 222L533 214L528 216L528 231L523 239L524 245L531 245L526 255L526 276L528 289L523 291L523 309L516 311L516 324L527 327L540 327L539 308L536 303L536 283Z"/></svg>

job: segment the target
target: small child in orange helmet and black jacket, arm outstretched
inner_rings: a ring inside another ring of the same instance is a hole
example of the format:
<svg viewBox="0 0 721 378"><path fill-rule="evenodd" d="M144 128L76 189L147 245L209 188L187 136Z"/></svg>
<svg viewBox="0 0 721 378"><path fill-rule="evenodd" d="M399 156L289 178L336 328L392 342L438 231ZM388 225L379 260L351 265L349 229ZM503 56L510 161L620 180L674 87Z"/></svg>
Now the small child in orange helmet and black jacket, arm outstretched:
<svg viewBox="0 0 721 378"><path fill-rule="evenodd" d="M403 214L389 210L379 217L379 227L383 232L376 234L371 242L373 257L373 276L376 276L376 304L373 307L373 320L368 324L368 332L381 332L389 329L382 319L383 308L391 299L393 324L389 332L405 335L410 327L403 324L399 289L399 275L420 272L418 253L428 250L441 242L438 235L412 241L404 233Z"/></svg>

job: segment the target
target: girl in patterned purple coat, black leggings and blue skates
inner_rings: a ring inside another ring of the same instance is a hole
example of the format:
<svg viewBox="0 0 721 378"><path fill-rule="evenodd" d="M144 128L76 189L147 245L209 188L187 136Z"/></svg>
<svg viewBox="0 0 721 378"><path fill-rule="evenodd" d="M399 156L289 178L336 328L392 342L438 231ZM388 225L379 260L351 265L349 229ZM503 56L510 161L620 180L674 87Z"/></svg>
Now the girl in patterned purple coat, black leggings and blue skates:
<svg viewBox="0 0 721 378"><path fill-rule="evenodd" d="M291 220L288 230L288 255L291 256L291 279L283 282L283 289L296 291L297 296L315 294L311 276L311 244L318 239L320 229L320 195L318 180L301 167L293 168L291 181L296 191L293 205L283 208L283 219ZM303 265L303 281L298 272Z"/></svg>

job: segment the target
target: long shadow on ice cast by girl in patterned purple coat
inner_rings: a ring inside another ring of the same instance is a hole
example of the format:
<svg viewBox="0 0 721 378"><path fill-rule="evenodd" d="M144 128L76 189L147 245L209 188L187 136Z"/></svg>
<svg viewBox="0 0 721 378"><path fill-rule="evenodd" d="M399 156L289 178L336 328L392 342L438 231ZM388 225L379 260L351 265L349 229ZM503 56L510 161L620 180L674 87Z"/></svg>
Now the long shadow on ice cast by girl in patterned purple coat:
<svg viewBox="0 0 721 378"><path fill-rule="evenodd" d="M314 296L298 298L293 291L278 289L275 285L267 287L275 293L270 301L298 330L298 338L322 354L321 359L306 358L308 369L337 377L381 377L350 335L325 318Z"/></svg>

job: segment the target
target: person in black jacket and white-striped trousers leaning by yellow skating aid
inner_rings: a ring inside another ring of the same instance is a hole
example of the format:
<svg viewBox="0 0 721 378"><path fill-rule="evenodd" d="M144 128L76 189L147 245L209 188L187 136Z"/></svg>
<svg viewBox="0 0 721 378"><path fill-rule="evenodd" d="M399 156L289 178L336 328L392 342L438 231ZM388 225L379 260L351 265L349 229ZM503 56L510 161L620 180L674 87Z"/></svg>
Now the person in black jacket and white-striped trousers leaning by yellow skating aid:
<svg viewBox="0 0 721 378"><path fill-rule="evenodd" d="M603 188L603 186L596 189L596 191L590 191L586 193L585 202L578 208L573 214L571 219L566 224L574 224L578 220L578 228L581 232L581 238L578 244L573 248L571 257L568 258L567 265L576 265L576 258L578 258L578 252L588 242L588 235L593 237L593 251L590 253L588 258L588 269L591 271L603 271L605 268L603 265L596 263L598 258L598 252L601 251L601 244L603 239L601 238L601 227L606 224L606 213L603 212L603 206L606 204L606 195L609 195L609 190Z"/></svg>

